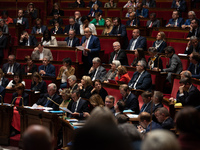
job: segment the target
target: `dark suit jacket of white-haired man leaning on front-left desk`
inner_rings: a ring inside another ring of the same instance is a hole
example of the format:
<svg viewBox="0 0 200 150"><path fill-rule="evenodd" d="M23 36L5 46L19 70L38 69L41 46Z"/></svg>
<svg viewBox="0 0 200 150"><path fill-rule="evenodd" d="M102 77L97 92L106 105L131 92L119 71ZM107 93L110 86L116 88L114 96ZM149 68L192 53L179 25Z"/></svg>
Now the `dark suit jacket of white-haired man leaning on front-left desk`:
<svg viewBox="0 0 200 150"><path fill-rule="evenodd" d="M39 100L36 102L36 104L44 106L49 101L47 99L47 97L50 97L49 94L48 93L44 94L41 98L39 98ZM52 100L58 104L61 104L61 102L62 102L62 99L58 94L55 94L53 96ZM49 102L47 107L51 107L51 108L53 108L53 110L59 110L59 106L56 105L55 103L53 103L52 101Z"/></svg>

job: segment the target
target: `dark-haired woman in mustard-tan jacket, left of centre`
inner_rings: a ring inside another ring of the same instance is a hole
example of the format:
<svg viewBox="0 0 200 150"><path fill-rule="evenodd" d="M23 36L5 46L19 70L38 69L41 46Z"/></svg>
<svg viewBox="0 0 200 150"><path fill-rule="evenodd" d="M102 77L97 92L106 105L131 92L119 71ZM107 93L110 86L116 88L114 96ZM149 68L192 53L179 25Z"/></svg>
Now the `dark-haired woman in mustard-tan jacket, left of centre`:
<svg viewBox="0 0 200 150"><path fill-rule="evenodd" d="M74 75L75 68L71 66L72 60L71 58L64 58L63 59L63 66L60 68L57 79L61 79L60 88L67 87L67 79L70 75Z"/></svg>

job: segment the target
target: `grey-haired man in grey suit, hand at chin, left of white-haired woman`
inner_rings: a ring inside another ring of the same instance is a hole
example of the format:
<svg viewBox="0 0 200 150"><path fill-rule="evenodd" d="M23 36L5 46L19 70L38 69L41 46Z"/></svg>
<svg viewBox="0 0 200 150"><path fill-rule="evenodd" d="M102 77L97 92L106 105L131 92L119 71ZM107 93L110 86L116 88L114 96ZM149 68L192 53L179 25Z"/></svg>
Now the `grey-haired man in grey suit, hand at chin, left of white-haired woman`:
<svg viewBox="0 0 200 150"><path fill-rule="evenodd" d="M95 57L92 60L93 66L89 70L89 76L92 81L99 79L102 81L103 77L106 75L106 69L101 66L101 59L99 57Z"/></svg>

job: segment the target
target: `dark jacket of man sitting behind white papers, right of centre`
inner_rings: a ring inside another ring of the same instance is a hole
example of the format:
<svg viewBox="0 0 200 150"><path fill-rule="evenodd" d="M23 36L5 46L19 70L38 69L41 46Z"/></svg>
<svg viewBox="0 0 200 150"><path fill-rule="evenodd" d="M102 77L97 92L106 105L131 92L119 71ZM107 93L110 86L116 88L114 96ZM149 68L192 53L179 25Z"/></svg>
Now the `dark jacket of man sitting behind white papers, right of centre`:
<svg viewBox="0 0 200 150"><path fill-rule="evenodd" d="M137 96L130 93L127 99L123 97L123 101L125 102L125 109L131 109L135 111L136 114L139 113L139 102Z"/></svg>

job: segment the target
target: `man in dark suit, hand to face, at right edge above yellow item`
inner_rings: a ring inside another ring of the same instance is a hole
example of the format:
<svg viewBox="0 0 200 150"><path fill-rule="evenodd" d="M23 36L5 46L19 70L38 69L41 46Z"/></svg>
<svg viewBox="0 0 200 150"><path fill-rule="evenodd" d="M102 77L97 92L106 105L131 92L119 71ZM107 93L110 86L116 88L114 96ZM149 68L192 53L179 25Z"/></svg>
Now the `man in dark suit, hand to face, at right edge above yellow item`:
<svg viewBox="0 0 200 150"><path fill-rule="evenodd" d="M199 90L192 84L191 79L183 78L179 82L181 85L177 92L176 101L182 103L183 106L197 107L200 105Z"/></svg>

